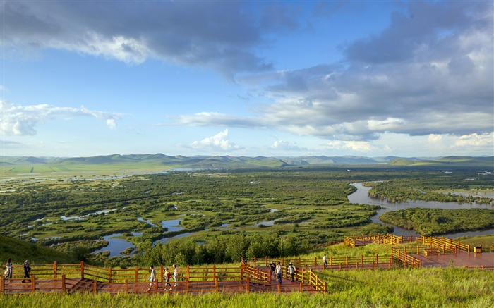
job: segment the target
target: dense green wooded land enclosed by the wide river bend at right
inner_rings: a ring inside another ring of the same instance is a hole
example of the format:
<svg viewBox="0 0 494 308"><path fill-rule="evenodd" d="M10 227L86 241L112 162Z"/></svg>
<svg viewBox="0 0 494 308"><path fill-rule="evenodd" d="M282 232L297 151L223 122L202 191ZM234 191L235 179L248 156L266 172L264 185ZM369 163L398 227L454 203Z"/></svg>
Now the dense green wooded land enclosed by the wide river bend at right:
<svg viewBox="0 0 494 308"><path fill-rule="evenodd" d="M390 211L382 221L416 230L421 235L437 235L494 228L494 209L421 209Z"/></svg>

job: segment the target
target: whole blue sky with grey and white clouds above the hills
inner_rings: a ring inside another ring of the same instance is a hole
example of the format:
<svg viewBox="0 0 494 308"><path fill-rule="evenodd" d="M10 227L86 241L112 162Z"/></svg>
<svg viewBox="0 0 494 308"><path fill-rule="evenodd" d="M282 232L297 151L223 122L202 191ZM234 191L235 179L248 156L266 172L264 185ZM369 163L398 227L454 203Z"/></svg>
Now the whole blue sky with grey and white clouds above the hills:
<svg viewBox="0 0 494 308"><path fill-rule="evenodd" d="M493 1L0 1L1 156L493 156Z"/></svg>

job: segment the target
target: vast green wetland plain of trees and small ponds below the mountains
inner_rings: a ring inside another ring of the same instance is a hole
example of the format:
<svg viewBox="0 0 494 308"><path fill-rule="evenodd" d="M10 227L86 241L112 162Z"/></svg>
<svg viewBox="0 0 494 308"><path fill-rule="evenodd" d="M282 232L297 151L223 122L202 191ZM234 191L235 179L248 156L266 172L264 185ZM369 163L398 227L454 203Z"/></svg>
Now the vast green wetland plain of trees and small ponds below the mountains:
<svg viewBox="0 0 494 308"><path fill-rule="evenodd" d="M391 198L399 192L411 199L412 192L421 196L430 192L447 200L452 195L440 192L492 191L493 176L479 175L483 170L373 165L351 166L351 170L299 166L16 174L0 184L0 233L54 245L78 259L107 266L222 263L254 255L284 257L308 252L318 243L341 240L343 235L392 230L370 221L378 207L349 204L347 195L355 190L350 183L379 180L384 182L369 184L374 186L371 192L387 187ZM469 218L476 216L483 212L472 212ZM479 224L482 219L473 220L477 223L466 226L431 220L426 232L491 228ZM175 221L179 227L164 226L167 221ZM407 224L405 228L415 226ZM132 242L135 250L127 250L128 257L123 258L89 254L107 245L102 237L111 234ZM188 236L167 244L157 242L176 235Z"/></svg>

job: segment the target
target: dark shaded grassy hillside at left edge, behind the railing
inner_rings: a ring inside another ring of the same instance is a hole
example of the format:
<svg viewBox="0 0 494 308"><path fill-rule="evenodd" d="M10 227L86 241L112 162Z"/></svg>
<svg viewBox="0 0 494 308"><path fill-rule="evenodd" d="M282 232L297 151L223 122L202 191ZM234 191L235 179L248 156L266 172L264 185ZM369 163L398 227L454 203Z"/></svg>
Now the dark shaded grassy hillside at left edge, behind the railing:
<svg viewBox="0 0 494 308"><path fill-rule="evenodd" d="M31 264L51 264L54 261L60 264L78 262L76 257L70 254L57 252L49 247L36 245L25 240L0 235L0 261L2 266L6 264L8 258L12 258L13 264L23 264L25 259L28 259Z"/></svg>

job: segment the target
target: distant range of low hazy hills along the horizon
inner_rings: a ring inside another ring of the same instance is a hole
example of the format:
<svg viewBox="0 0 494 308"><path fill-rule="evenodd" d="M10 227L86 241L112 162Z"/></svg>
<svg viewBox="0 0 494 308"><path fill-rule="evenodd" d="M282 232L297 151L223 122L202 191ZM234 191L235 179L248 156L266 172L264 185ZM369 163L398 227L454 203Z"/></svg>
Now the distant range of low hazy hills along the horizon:
<svg viewBox="0 0 494 308"><path fill-rule="evenodd" d="M104 155L92 157L1 156L1 173L57 171L169 170L176 168L280 168L289 166L381 164L387 166L477 166L492 171L494 156L403 158L397 156L168 156L164 154Z"/></svg>

